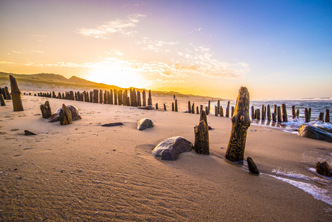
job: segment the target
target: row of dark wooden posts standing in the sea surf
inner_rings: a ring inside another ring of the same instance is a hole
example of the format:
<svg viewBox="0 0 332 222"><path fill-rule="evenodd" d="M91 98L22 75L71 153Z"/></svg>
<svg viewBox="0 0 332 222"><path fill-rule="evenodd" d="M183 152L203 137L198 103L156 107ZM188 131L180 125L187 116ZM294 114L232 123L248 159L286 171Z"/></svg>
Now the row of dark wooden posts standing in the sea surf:
<svg viewBox="0 0 332 222"><path fill-rule="evenodd" d="M288 116L287 116L287 110L286 110L286 105L282 104L281 107L275 105L275 110L272 113L272 121L273 122L288 122ZM282 113L281 113L282 111ZM299 118L300 115L300 110L297 109L295 112L295 106L292 106L292 117L295 119L296 117ZM268 107L262 105L262 115L261 115L261 110L260 109L254 109L254 106L251 106L251 119L256 119L256 120L267 120L271 121L271 107L268 105ZM309 123L311 120L311 108L309 109L305 108L304 109L304 118L305 122ZM325 121L326 123L330 123L330 110L326 109L325 110L325 120L324 119L324 112L320 112L318 120L319 121Z"/></svg>

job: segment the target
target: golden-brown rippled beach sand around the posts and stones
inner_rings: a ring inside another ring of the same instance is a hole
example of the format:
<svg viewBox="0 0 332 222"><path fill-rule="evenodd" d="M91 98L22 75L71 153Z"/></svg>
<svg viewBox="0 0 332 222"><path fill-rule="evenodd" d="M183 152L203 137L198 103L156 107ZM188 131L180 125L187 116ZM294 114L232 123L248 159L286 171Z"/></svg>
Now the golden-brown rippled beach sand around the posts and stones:
<svg viewBox="0 0 332 222"><path fill-rule="evenodd" d="M192 150L176 161L151 155L169 137L194 143L199 115L182 111L188 100L196 106L207 100L178 98L179 112L170 111L173 98L165 96L153 96L153 104L166 103L167 111L29 95L22 100L21 112L13 112L9 100L0 107L0 221L332 220L332 181L308 170L317 160L332 164L331 143L252 125L245 158L255 161L256 176L246 162L224 158L231 122L214 116L214 107L210 155ZM47 123L39 108L46 100L53 112L62 103L76 106L82 119ZM155 127L138 131L136 122L145 117ZM114 122L124 125L101 126ZM24 136L24 130L38 135ZM308 193L314 186L321 195Z"/></svg>

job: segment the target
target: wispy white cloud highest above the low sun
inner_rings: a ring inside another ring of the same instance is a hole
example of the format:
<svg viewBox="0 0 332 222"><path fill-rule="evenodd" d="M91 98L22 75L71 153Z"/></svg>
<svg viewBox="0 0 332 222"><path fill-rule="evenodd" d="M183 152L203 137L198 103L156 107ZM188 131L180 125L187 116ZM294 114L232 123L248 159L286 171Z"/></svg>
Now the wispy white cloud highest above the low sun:
<svg viewBox="0 0 332 222"><path fill-rule="evenodd" d="M130 14L127 16L127 19L117 18L112 21L105 22L102 25L97 26L96 28L81 28L76 32L88 37L95 37L97 39L111 39L111 36L114 34L119 34L120 36L133 36L136 31L127 30L133 28L136 23L139 22L140 17L145 17L144 14Z"/></svg>

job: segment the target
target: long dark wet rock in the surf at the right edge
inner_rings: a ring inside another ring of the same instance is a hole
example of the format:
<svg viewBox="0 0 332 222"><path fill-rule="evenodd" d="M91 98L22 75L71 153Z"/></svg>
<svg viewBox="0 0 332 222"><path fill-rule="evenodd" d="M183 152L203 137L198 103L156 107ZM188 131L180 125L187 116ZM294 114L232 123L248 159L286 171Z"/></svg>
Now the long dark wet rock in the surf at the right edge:
<svg viewBox="0 0 332 222"><path fill-rule="evenodd" d="M318 127L302 124L299 127L298 132L301 137L332 143L332 134L319 129Z"/></svg>

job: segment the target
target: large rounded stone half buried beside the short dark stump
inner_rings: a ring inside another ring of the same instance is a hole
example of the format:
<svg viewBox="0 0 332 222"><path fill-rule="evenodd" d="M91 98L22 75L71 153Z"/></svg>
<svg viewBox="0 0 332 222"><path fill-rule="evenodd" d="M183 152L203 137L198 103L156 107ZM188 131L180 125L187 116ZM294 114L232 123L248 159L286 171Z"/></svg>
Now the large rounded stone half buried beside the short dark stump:
<svg viewBox="0 0 332 222"><path fill-rule="evenodd" d="M189 152L193 144L183 137L172 137L162 141L153 150L152 155L162 160L176 160L182 152Z"/></svg>

